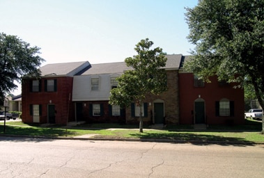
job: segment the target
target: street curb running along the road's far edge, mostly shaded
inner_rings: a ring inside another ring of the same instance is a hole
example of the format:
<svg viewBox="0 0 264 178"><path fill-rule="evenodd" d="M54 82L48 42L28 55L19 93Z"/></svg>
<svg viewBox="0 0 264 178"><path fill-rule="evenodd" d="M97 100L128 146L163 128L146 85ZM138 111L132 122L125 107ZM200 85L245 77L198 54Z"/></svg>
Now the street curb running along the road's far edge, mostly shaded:
<svg viewBox="0 0 264 178"><path fill-rule="evenodd" d="M17 136L10 134L0 134L1 137L13 138L33 138L47 140L88 140L88 141L123 141L123 142L155 142L155 143L190 143L197 145L264 145L262 142L246 142L246 141L214 141L214 140L171 140L171 139L150 139L150 138L74 138L74 137L52 137L52 136Z"/></svg>

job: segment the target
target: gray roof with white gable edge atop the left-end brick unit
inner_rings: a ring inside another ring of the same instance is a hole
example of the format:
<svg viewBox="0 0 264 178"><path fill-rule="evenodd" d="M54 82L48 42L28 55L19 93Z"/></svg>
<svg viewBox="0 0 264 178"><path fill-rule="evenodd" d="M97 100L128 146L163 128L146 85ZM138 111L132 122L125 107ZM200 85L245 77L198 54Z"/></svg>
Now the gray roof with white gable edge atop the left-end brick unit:
<svg viewBox="0 0 264 178"><path fill-rule="evenodd" d="M55 63L40 67L41 76L75 76L91 67L88 61L73 63Z"/></svg>

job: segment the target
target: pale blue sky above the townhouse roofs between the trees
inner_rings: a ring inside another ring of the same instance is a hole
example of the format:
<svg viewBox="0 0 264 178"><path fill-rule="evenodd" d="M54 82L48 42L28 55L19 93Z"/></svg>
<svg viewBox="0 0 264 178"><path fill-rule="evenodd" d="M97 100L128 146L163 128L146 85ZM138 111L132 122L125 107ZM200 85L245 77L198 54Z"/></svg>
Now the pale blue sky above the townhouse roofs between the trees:
<svg viewBox="0 0 264 178"><path fill-rule="evenodd" d="M189 54L185 8L198 0L0 0L0 32L40 47L47 63L124 61L149 38L167 54Z"/></svg>

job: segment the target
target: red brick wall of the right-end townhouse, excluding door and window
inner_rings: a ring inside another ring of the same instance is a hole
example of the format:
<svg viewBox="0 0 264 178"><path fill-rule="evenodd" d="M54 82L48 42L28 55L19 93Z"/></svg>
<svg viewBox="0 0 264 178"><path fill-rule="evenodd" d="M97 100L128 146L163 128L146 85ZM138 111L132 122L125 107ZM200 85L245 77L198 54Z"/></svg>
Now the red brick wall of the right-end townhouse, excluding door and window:
<svg viewBox="0 0 264 178"><path fill-rule="evenodd" d="M210 78L211 83L204 87L194 87L194 75L190 73L179 74L180 87L180 124L194 124L194 101L204 99L206 124L226 124L233 120L234 124L244 123L244 90L230 86L219 86L217 77ZM234 102L233 117L216 116L215 102L220 99L229 99Z"/></svg>

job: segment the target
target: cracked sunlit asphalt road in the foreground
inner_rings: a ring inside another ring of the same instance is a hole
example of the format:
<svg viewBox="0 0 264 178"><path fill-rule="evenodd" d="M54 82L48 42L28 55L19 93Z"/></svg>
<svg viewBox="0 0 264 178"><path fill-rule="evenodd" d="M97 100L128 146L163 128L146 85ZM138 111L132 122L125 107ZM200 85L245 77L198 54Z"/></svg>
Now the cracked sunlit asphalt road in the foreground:
<svg viewBox="0 0 264 178"><path fill-rule="evenodd" d="M264 177L264 145L0 137L0 177Z"/></svg>

